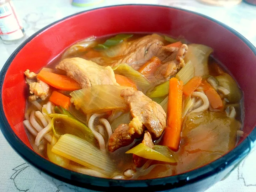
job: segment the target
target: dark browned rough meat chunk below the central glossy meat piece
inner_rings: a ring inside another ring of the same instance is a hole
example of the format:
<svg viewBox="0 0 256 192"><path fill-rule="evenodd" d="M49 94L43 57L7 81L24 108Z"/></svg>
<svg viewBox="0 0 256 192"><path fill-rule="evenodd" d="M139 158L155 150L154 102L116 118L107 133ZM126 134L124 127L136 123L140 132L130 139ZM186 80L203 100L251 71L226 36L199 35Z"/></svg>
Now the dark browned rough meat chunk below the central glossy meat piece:
<svg viewBox="0 0 256 192"><path fill-rule="evenodd" d="M131 144L134 140L132 134L129 133L130 127L128 124L121 124L110 136L108 143L108 150L114 152L115 150L121 148L122 146L127 146Z"/></svg>

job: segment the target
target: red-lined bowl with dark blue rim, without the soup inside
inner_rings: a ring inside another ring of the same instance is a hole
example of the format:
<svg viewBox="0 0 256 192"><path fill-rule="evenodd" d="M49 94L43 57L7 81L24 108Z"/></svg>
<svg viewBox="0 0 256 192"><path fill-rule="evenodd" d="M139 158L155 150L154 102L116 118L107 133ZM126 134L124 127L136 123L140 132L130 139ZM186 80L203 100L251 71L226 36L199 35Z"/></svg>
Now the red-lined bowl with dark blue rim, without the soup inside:
<svg viewBox="0 0 256 192"><path fill-rule="evenodd" d="M28 96L23 71L38 71L74 42L116 33L162 33L184 36L214 49L214 57L234 75L244 91L244 137L214 162L184 174L150 180L111 180L79 174L36 154L23 119ZM80 12L54 22L18 47L1 71L1 130L12 148L62 191L202 191L222 180L250 152L256 140L256 48L230 27L195 12L154 5L120 5Z"/></svg>

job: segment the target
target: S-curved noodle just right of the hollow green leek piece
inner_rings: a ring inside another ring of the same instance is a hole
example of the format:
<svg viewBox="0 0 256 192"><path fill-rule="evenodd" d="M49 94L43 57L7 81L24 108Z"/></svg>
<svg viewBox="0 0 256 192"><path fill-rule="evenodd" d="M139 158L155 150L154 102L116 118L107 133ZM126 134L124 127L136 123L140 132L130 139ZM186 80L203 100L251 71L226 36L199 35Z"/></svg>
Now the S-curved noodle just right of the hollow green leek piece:
<svg viewBox="0 0 256 192"><path fill-rule="evenodd" d="M104 138L102 137L102 135L100 133L98 133L95 129L94 129L94 121L97 117L101 117L104 114L93 114L88 122L88 127L89 129L91 129L92 133L94 134L94 137L97 139L98 144L100 146L100 150L104 153L106 153L106 143Z"/></svg>

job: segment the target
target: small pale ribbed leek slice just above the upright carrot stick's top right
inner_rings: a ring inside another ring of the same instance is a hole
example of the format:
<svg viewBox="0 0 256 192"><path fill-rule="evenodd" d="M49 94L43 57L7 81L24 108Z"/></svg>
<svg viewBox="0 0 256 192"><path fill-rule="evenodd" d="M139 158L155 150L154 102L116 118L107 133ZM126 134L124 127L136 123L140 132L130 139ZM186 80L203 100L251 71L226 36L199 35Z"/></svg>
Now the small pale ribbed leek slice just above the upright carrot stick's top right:
<svg viewBox="0 0 256 192"><path fill-rule="evenodd" d="M194 67L190 61L187 62L185 66L183 66L183 68L176 74L176 78L178 78L180 81L183 81L184 85L193 77Z"/></svg>

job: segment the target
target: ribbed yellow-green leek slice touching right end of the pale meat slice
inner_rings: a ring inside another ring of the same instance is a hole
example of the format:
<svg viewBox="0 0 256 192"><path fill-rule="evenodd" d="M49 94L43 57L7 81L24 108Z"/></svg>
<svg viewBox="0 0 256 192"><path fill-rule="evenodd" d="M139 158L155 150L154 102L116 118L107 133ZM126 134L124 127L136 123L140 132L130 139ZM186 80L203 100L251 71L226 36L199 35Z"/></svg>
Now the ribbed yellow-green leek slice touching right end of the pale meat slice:
<svg viewBox="0 0 256 192"><path fill-rule="evenodd" d="M113 67L114 72L120 73L129 79L131 79L138 87L138 90L142 92L146 92L150 84L148 80L138 71L134 70L131 66L127 65L126 63L119 64Z"/></svg>

